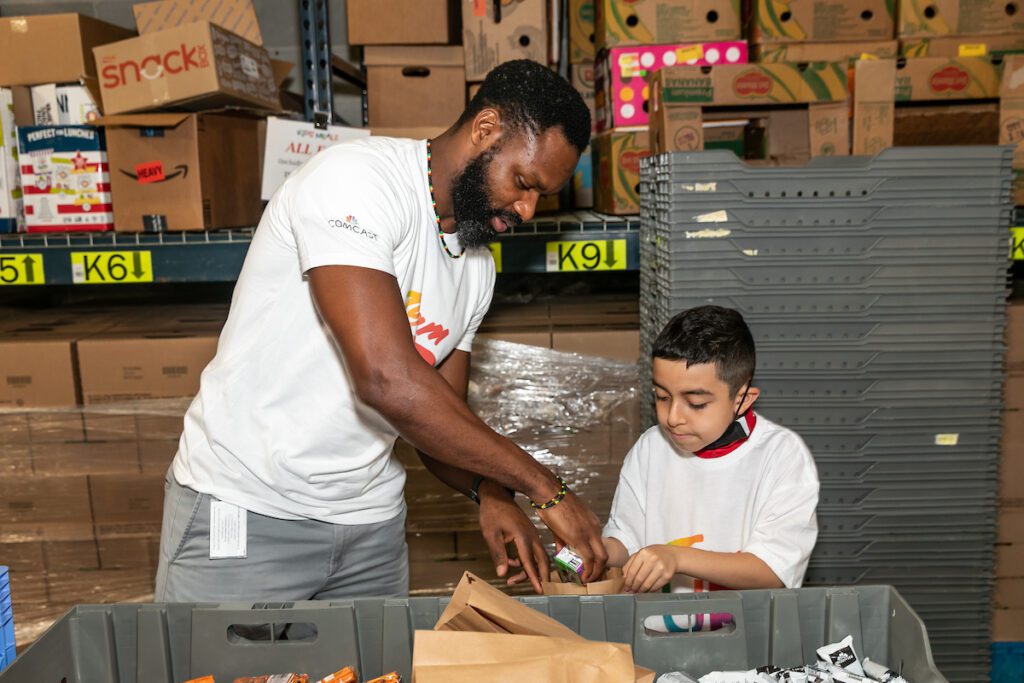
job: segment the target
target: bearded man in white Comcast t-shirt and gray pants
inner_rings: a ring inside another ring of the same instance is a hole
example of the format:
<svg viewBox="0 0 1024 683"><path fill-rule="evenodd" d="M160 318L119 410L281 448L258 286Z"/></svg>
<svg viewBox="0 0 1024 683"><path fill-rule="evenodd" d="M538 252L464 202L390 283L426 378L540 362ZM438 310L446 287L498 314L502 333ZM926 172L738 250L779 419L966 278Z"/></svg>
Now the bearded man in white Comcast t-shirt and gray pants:
<svg viewBox="0 0 1024 683"><path fill-rule="evenodd" d="M590 114L564 79L512 61L432 141L331 147L274 195L168 472L158 601L408 592L401 435L480 504L499 575L540 591L525 494L587 578L597 518L466 404L495 282L486 245L571 177ZM518 559L506 556L513 543Z"/></svg>

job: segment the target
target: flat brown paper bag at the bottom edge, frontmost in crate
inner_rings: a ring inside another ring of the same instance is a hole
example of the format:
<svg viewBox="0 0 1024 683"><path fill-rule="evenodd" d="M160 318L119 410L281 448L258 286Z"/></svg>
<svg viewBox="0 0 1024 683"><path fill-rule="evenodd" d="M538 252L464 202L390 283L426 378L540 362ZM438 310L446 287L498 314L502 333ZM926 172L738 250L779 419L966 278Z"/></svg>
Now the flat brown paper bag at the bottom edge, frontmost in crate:
<svg viewBox="0 0 1024 683"><path fill-rule="evenodd" d="M632 683L628 645L581 638L417 631L414 683Z"/></svg>

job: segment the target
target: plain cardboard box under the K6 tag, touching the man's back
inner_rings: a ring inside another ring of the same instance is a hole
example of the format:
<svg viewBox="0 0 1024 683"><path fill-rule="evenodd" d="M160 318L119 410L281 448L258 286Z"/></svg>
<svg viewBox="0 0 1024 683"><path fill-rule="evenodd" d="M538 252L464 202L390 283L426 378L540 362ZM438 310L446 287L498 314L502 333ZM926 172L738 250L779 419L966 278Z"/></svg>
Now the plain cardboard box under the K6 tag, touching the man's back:
<svg viewBox="0 0 1024 683"><path fill-rule="evenodd" d="M86 405L193 396L217 350L216 333L104 333L77 344Z"/></svg>

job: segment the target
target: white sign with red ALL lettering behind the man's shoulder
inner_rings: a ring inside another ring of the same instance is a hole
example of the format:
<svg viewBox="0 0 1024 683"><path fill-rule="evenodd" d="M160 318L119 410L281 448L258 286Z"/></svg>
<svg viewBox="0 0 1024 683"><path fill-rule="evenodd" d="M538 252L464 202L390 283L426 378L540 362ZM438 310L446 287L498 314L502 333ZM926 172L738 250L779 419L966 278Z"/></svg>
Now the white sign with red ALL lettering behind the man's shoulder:
<svg viewBox="0 0 1024 683"><path fill-rule="evenodd" d="M266 120L260 199L269 201L285 178L321 150L368 135L370 131L366 128L328 126L321 130L307 121L270 117Z"/></svg>

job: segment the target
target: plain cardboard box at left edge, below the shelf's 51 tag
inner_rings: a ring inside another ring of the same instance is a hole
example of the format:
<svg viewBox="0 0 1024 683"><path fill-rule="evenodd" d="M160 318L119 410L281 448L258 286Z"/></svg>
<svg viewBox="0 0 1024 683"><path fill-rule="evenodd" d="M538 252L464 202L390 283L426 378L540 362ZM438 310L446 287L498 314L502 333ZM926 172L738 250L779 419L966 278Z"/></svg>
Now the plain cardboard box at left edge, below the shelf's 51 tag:
<svg viewBox="0 0 1024 683"><path fill-rule="evenodd" d="M0 341L0 407L59 408L78 399L74 336L4 334Z"/></svg>

